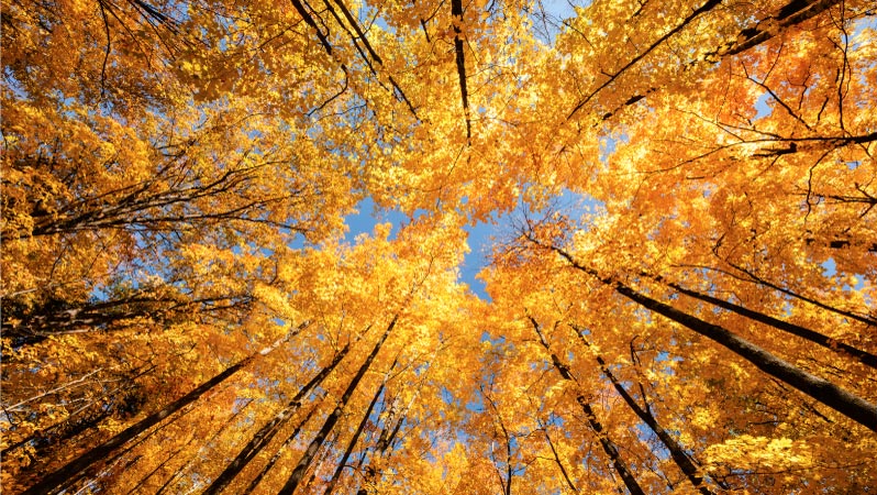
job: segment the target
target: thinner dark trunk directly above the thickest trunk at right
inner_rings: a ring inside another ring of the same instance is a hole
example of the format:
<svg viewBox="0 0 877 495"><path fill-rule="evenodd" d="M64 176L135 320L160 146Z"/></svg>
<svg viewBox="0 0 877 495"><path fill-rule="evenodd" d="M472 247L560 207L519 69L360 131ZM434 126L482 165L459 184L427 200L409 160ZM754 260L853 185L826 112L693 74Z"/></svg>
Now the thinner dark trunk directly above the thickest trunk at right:
<svg viewBox="0 0 877 495"><path fill-rule="evenodd" d="M673 282L666 282L663 277L656 275L644 274L650 278L653 278L667 287L673 288L674 290L685 294L688 297L692 297L698 300L702 300L704 302L709 302L713 306L718 306L722 309L726 309L729 311L733 311L740 316L746 317L751 320L755 320L767 326L770 326L777 330L781 330L792 336L800 337L801 339L809 340L815 344L822 345L825 349L829 349L833 352L840 352L842 354L848 354L855 358L859 363L870 366L873 369L877 369L877 355L872 354L870 352L863 351L861 349L856 349L852 345L845 344L843 342L839 342L828 336L819 333L817 331L810 330L809 328L804 328L798 324L789 323L787 321L782 321L778 318L770 317L759 311L754 311L752 309L747 309L743 306L735 305L733 302L729 302L726 300L719 299L718 297L712 297L707 294L701 294L695 290L687 289L678 284Z"/></svg>

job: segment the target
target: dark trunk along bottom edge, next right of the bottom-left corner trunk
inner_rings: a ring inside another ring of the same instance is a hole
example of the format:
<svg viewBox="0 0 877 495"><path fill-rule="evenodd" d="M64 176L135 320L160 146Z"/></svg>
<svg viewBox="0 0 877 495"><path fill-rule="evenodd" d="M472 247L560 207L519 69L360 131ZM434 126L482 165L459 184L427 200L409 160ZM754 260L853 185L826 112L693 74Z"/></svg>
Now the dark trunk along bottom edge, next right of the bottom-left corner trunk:
<svg viewBox="0 0 877 495"><path fill-rule="evenodd" d="M274 418L271 418L267 424L265 424L253 436L249 442L244 446L241 452L237 453L237 457L229 463L227 466L213 480L213 483L208 486L208 488L203 492L204 495L215 495L222 492L229 483L231 483L234 477L243 471L244 468L253 460L260 451L265 448L280 431L284 425L292 417L292 415L301 407L301 400L307 396L313 387L320 385L323 380L329 376L330 373L337 366L342 359L347 354L349 351L351 345L349 343L344 346L332 362L323 367L320 373L314 375L310 382L304 384L299 392L296 394L295 397L286 405L279 413L277 413Z"/></svg>

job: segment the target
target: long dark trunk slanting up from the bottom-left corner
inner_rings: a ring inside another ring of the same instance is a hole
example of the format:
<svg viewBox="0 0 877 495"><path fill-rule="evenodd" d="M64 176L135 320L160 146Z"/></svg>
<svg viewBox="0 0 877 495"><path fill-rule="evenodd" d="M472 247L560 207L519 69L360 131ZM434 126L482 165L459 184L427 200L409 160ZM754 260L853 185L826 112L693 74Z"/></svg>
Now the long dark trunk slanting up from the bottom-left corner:
<svg viewBox="0 0 877 495"><path fill-rule="evenodd" d="M301 323L296 333L303 330L306 327L310 324L309 321ZM106 442L101 443L89 450L88 452L79 455L78 458L74 459L64 468L55 471L46 475L43 480L41 480L35 485L31 486L26 491L23 492L24 495L43 495L48 493L58 492L65 487L67 487L68 483L84 475L84 472L90 470L97 462L103 460L107 455L109 455L113 450L118 449L119 447L123 446L129 440L137 437L138 435L143 433L144 431L148 430L149 428L154 427L155 425L159 424L167 417L171 416L173 414L177 413L178 410L182 409L185 406L198 400L201 398L204 393L213 389L219 384L227 380L230 376L234 375L238 371L246 367L249 363L256 360L256 358L267 355L280 344L286 341L289 336L277 340L270 346L263 349L259 352L256 352L243 360L241 360L237 364L230 366L224 372L218 374L217 376L210 378L209 381L201 384L196 389L189 392L188 394L184 395L182 397L178 398L174 403L167 405L162 410L153 413L152 415L141 419L136 424L127 427L123 431L116 433L113 438L107 440Z"/></svg>

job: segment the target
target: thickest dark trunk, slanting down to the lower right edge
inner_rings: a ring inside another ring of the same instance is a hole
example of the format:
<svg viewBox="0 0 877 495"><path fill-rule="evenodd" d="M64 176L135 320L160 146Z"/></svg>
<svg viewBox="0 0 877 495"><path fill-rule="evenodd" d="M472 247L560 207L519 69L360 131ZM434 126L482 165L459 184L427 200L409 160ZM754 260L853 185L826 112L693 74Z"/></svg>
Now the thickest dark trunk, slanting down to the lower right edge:
<svg viewBox="0 0 877 495"><path fill-rule="evenodd" d="M539 241L534 238L530 238L530 240L539 245L544 246L544 244L539 243ZM806 395L809 395L810 397L831 407L837 413L843 414L847 418L861 424L865 428L877 431L877 405L872 404L862 397L844 391L843 388L824 378L820 378L819 376L810 374L792 365L791 363L775 356L770 352L753 344L752 342L728 331L718 324L709 323L700 318L679 311L678 309L652 299L651 297L645 296L620 282L601 277L597 271L579 264L573 258L573 256L569 255L569 253L559 248L547 248L565 257L576 270L593 276L604 285L612 287L612 289L614 289L618 294L621 294L628 299L652 310L653 312L662 315L703 337L722 344L768 375L779 380L780 382L791 385Z"/></svg>

